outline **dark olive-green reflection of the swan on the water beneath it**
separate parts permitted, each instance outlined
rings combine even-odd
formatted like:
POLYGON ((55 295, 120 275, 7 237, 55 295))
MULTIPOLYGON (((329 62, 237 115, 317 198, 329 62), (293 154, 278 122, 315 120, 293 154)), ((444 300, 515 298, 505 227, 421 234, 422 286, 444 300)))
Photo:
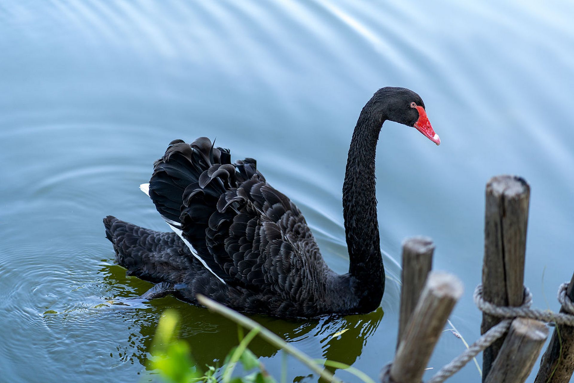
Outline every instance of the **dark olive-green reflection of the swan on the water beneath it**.
MULTIPOLYGON (((103 265, 100 269, 102 280, 114 296, 138 295, 150 287, 149 283, 138 280, 135 277, 127 277, 125 269, 116 265, 103 265), (135 283, 135 284, 134 284, 135 283), (121 291, 122 286, 126 291, 121 291), (133 288, 137 291, 134 291, 133 288)), ((116 300, 116 299, 114 299, 116 300)), ((205 365, 221 366, 227 353, 238 345, 238 326, 236 323, 214 314, 203 307, 196 307, 181 302, 174 297, 167 296, 155 299, 147 303, 123 300, 118 312, 125 315, 125 321, 129 324, 133 334, 130 338, 139 338, 142 342, 133 343, 130 350, 123 350, 126 362, 136 360, 143 366, 148 365, 150 345, 156 331, 157 322, 161 313, 173 308, 177 310, 180 318, 179 338, 187 341, 191 346, 192 355, 197 366, 205 369, 205 365), (132 310, 146 310, 148 315, 134 316, 132 310), (131 354, 131 357, 130 355, 131 354)), ((377 310, 364 315, 325 315, 315 319, 278 319, 270 316, 250 316, 262 326, 279 335, 286 342, 293 343, 311 357, 316 359, 329 359, 352 365, 361 355, 367 340, 377 330, 383 317, 383 310, 377 310), (321 354, 317 354, 320 348, 321 354)), ((273 357, 279 351, 277 347, 270 345, 265 339, 256 336, 249 345, 253 353, 261 357, 273 357)), ((265 361, 263 361, 265 364, 265 361)), ((289 362, 288 362, 289 363, 289 362)), ((334 367, 325 367, 335 372, 334 367)), ((305 370, 307 371, 307 370, 305 370)), ((294 381, 315 380, 311 371, 307 376, 298 376, 294 381)))

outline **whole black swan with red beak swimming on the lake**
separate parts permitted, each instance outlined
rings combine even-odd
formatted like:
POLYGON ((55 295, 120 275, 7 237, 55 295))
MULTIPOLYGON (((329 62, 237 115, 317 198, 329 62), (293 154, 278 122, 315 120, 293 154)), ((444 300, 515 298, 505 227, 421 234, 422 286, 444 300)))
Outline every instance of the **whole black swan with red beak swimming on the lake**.
POLYGON ((343 184, 349 272, 333 272, 301 211, 267 183, 253 158, 201 137, 170 142, 141 185, 174 233, 104 218, 116 261, 156 285, 144 299, 172 294, 197 304, 203 294, 235 310, 280 317, 375 310, 385 290, 375 199, 375 150, 386 120, 440 138, 418 94, 386 87, 359 115, 343 184))

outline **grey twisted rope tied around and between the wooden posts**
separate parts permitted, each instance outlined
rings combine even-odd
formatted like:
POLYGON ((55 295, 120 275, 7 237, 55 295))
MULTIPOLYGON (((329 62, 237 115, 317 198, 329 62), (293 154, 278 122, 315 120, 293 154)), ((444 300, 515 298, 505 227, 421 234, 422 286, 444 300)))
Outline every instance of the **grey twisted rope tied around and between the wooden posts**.
MULTIPOLYGON (((433 376, 428 383, 442 383, 451 377, 453 374, 459 372, 459 370, 466 365, 472 358, 484 351, 488 346, 492 345, 498 338, 508 331, 510 323, 512 323, 513 318, 530 318, 542 320, 544 322, 554 322, 556 324, 565 324, 567 326, 574 326, 574 303, 569 299, 567 295, 568 282, 560 285, 558 289, 558 301, 562 305, 565 311, 571 314, 556 313, 549 310, 540 310, 537 308, 530 308, 532 304, 532 294, 528 288, 524 288, 524 300, 522 305, 518 307, 500 307, 496 306, 490 302, 487 302, 482 297, 482 285, 478 285, 474 291, 473 299, 476 307, 480 311, 497 316, 498 318, 507 318, 502 320, 496 326, 493 326, 485 332, 476 342, 472 343, 470 347, 462 354, 460 354, 455 359, 452 359, 448 365, 444 366, 433 376)), ((383 368, 383 376, 389 378, 390 380, 390 365, 386 365, 383 368)), ((384 382, 385 380, 383 380, 384 382)))

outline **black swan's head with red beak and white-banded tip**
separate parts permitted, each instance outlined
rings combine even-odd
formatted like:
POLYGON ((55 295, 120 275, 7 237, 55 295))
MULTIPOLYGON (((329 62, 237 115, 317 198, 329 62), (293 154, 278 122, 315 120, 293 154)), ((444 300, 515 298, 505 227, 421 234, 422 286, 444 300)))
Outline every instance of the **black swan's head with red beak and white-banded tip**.
POLYGON ((407 88, 385 87, 375 93, 373 100, 384 119, 412 126, 440 145, 440 137, 430 125, 421 96, 407 88))

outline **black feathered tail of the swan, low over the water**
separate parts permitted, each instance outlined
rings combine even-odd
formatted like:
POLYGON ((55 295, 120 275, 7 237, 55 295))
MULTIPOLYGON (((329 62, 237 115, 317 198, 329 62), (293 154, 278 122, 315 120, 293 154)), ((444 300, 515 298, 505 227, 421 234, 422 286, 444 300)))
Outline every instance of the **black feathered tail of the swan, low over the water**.
POLYGON ((193 256, 175 233, 145 229, 111 215, 103 223, 106 238, 114 246, 115 262, 128 275, 160 283, 181 280, 189 273, 193 256))

